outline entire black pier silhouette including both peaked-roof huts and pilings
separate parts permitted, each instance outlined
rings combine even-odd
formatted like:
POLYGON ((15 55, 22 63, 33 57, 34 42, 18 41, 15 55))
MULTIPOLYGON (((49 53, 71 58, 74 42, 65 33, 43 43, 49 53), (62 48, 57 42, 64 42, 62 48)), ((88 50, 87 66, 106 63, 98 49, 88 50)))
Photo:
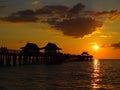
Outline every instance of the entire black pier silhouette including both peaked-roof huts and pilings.
POLYGON ((81 55, 63 54, 62 50, 54 43, 48 43, 45 47, 39 48, 34 43, 27 43, 20 50, 0 48, 0 66, 16 66, 28 64, 61 64, 70 61, 70 58, 77 58, 74 61, 92 60, 93 56, 87 52, 81 55), (44 52, 41 52, 43 50, 44 52))

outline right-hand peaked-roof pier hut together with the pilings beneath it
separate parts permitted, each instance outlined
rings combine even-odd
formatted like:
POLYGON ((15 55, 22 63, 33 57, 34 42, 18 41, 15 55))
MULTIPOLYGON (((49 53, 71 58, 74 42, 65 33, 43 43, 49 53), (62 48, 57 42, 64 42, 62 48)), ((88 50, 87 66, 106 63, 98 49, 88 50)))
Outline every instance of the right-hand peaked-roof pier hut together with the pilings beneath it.
POLYGON ((44 50, 46 64, 60 64, 63 62, 63 54, 59 52, 61 48, 56 44, 48 43, 41 49, 44 50))

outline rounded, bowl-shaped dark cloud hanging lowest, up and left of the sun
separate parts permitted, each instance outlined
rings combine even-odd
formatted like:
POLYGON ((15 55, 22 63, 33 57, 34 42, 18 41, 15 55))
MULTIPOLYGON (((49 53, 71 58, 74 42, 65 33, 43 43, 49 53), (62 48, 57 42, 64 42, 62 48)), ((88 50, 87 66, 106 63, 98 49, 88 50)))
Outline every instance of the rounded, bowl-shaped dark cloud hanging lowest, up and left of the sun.
POLYGON ((96 31, 97 27, 102 24, 90 17, 88 18, 75 18, 63 20, 61 22, 49 22, 54 28, 63 32, 64 35, 73 37, 84 37, 96 31))

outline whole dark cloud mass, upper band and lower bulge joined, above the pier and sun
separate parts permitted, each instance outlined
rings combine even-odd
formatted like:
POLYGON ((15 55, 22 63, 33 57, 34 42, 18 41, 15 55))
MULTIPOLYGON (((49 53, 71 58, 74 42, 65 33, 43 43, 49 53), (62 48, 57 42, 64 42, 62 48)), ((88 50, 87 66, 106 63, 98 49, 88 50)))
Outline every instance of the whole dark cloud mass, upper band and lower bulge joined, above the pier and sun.
POLYGON ((47 5, 36 10, 11 13, 6 17, 0 17, 0 20, 13 23, 48 23, 64 35, 82 38, 96 31, 96 28, 102 27, 103 21, 99 20, 100 16, 118 14, 117 10, 94 13, 93 11, 86 11, 85 7, 82 3, 78 3, 73 7, 47 5), (95 19, 96 17, 97 19, 95 19))

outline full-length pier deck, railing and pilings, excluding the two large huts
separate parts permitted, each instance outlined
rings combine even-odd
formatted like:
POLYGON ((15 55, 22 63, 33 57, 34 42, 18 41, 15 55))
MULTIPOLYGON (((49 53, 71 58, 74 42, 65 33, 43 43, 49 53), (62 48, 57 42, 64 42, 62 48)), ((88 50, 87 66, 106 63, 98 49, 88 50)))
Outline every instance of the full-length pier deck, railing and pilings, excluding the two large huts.
POLYGON ((68 61, 90 61, 93 56, 83 53, 82 55, 66 55, 63 53, 45 54, 45 53, 24 53, 22 50, 0 49, 0 66, 16 66, 28 64, 61 64, 68 61), (68 60, 76 58, 76 60, 68 60))

